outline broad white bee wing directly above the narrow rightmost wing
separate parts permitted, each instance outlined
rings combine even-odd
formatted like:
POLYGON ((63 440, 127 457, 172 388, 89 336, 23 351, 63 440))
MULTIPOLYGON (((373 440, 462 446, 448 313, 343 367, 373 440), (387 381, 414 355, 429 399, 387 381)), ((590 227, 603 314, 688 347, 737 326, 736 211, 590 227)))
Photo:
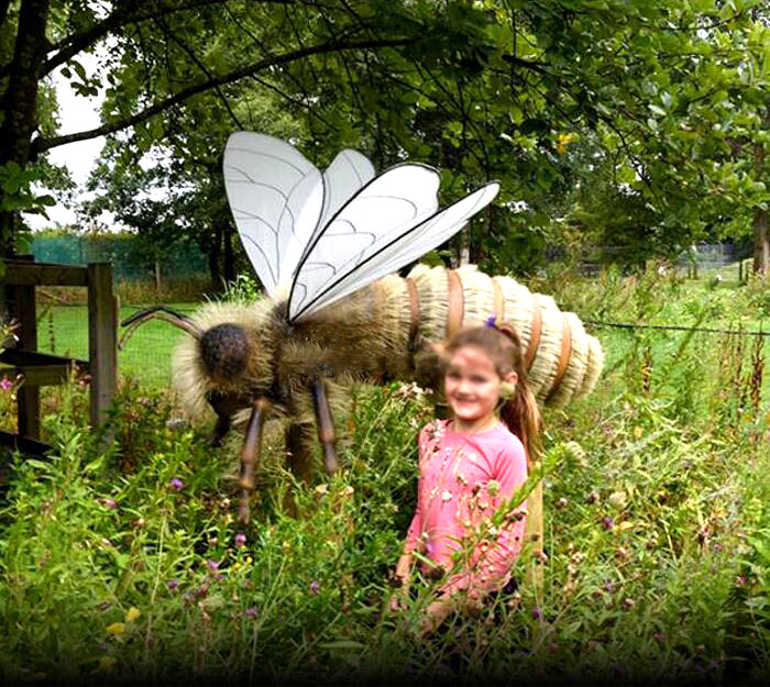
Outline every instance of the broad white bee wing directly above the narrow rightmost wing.
MULTIPOLYGON (((289 293, 289 321, 316 310, 322 295, 358 265, 433 215, 439 181, 432 167, 397 165, 362 186, 331 214, 297 266, 289 293)), ((366 282, 364 279, 361 285, 366 282)))

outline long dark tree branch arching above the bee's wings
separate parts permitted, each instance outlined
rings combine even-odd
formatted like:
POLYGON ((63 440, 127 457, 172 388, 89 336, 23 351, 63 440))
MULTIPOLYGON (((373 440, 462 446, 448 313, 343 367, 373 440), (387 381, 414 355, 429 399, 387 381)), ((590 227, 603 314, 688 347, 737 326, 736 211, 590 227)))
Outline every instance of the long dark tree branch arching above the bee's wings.
POLYGON ((234 81, 238 81, 244 77, 252 76, 255 73, 262 71, 263 69, 267 69, 268 67, 277 67, 279 65, 289 64, 292 62, 296 62, 297 59, 309 57, 310 55, 322 55, 324 53, 334 53, 342 51, 372 49, 378 47, 399 47, 409 45, 411 43, 415 43, 416 41, 416 37, 404 37, 380 41, 360 41, 350 43, 330 42, 322 43, 320 45, 312 45, 310 47, 306 47, 298 51, 293 51, 283 55, 276 55, 274 57, 267 57, 251 65, 246 65, 245 67, 234 69, 229 74, 215 77, 206 81, 201 81, 200 84, 196 84, 194 86, 190 86, 189 88, 185 88, 178 93, 175 93, 174 96, 170 96, 165 100, 155 103, 154 106, 145 108, 136 114, 121 119, 119 121, 108 122, 106 124, 102 124, 101 126, 97 126, 96 129, 90 129, 88 131, 81 131, 74 134, 65 134, 63 136, 53 136, 50 138, 36 138, 33 143, 33 148, 35 153, 41 153, 43 151, 48 151, 53 147, 57 147, 59 145, 66 145, 67 143, 75 143, 77 141, 88 141, 98 136, 105 136, 107 134, 116 133, 117 131, 122 131, 123 129, 128 129, 129 126, 134 126, 136 124, 142 123, 148 120, 151 117, 164 112, 165 110, 168 110, 169 108, 173 108, 174 106, 177 106, 184 102, 185 100, 188 100, 193 96, 197 96, 198 93, 202 93, 207 90, 217 88, 219 86, 224 86, 226 84, 233 84, 234 81))

